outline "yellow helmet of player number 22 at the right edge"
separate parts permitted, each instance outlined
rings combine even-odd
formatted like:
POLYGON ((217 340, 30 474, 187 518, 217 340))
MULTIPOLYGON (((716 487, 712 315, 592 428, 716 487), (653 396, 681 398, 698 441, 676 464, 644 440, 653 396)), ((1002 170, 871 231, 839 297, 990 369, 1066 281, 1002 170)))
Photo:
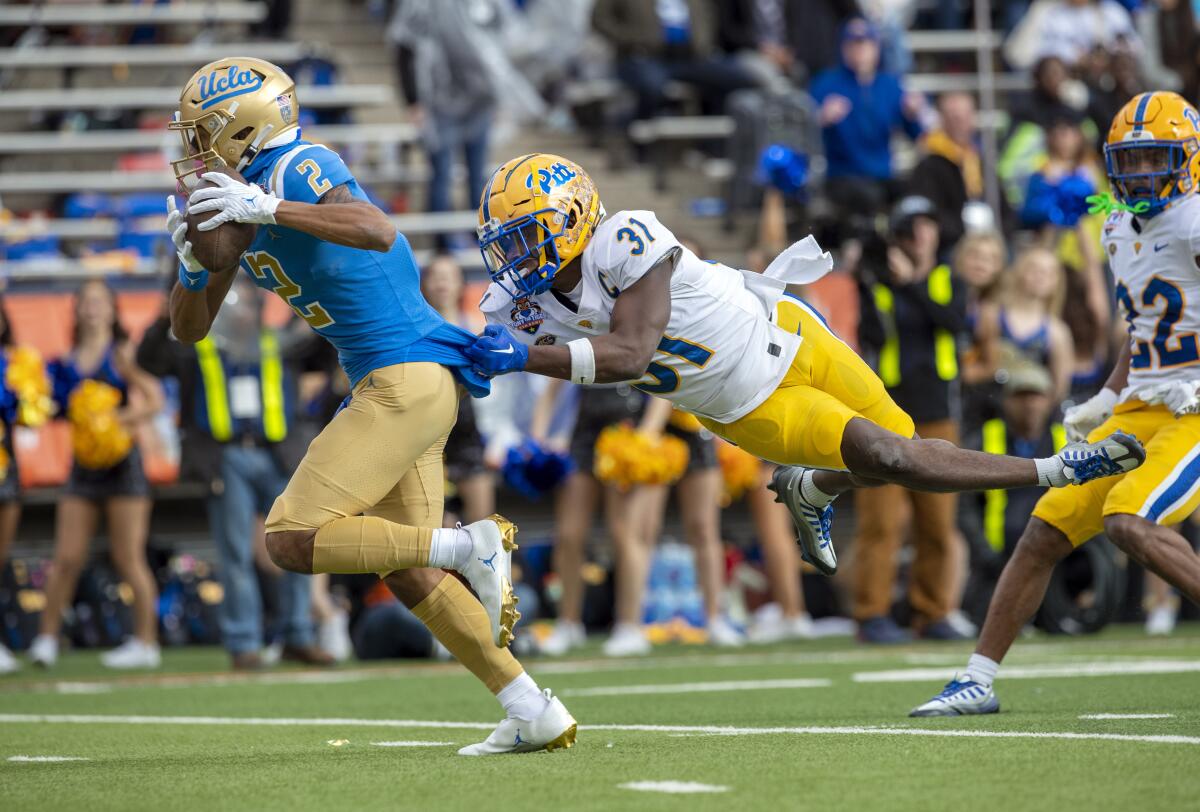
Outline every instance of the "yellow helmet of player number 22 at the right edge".
POLYGON ((1104 164, 1117 199, 1153 217, 1200 187, 1200 113, 1178 94, 1139 94, 1112 119, 1104 164))

